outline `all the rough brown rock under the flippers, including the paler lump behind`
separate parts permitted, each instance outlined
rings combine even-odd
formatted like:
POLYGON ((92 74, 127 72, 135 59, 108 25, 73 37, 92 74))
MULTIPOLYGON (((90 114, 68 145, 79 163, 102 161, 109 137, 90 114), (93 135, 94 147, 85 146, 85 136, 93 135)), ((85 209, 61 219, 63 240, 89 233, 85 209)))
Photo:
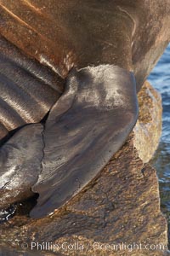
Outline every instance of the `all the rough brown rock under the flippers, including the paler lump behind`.
POLYGON ((144 164, 161 134, 161 99, 148 83, 139 93, 139 106, 139 122, 127 142, 82 193, 52 216, 34 220, 18 214, 1 226, 6 250, 24 247, 28 253, 2 248, 0 255, 48 256, 54 255, 53 247, 55 255, 168 254, 156 170, 144 164))

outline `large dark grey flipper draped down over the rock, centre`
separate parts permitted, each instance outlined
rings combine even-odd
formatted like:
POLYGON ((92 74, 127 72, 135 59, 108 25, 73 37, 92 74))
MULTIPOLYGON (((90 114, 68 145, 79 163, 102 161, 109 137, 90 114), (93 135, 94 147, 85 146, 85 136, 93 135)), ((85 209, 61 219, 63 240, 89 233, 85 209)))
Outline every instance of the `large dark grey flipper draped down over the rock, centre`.
POLYGON ((61 207, 125 142, 138 116, 133 73, 113 65, 73 70, 43 132, 42 172, 31 217, 61 207))

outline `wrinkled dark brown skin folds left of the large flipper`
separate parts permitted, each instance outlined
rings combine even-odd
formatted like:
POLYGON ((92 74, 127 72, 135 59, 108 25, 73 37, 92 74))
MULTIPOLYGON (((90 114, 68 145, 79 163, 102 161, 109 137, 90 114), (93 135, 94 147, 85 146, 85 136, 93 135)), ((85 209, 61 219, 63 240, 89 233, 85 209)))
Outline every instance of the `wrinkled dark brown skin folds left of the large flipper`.
POLYGON ((27 123, 37 123, 59 99, 63 86, 48 67, 28 59, 0 36, 0 139, 27 123))

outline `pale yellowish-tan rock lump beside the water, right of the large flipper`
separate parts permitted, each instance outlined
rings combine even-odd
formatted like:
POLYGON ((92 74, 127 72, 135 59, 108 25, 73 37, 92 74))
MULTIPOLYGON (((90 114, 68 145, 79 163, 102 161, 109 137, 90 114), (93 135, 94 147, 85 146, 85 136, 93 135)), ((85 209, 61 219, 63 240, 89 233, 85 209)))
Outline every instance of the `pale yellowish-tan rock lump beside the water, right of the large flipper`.
POLYGON ((134 147, 139 158, 147 163, 161 137, 161 95, 146 81, 139 91, 139 119, 135 125, 134 147))

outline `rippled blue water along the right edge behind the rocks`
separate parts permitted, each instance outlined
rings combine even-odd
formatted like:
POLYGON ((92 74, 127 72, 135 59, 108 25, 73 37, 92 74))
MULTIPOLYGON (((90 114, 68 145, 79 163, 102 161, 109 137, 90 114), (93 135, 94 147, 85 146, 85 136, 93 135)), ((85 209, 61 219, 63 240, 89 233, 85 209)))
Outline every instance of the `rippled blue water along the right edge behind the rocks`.
POLYGON ((159 177, 161 212, 166 213, 170 224, 170 44, 148 80, 159 90, 162 97, 162 135, 153 163, 159 177))

